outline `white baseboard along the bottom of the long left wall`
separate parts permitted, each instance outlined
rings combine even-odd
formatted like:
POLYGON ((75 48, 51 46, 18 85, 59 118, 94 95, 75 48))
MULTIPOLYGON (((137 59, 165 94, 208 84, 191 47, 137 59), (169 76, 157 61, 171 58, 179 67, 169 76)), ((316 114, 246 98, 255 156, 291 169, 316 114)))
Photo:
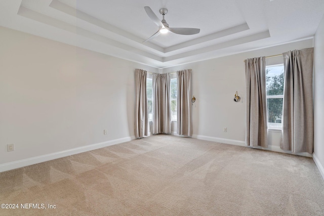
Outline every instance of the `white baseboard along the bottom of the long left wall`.
POLYGON ((41 156, 17 160, 17 161, 13 161, 13 162, 9 162, 9 163, 3 163, 3 164, 0 164, 0 172, 8 171, 11 169, 16 169, 16 168, 21 168, 24 166, 41 163, 41 162, 45 162, 45 161, 49 161, 49 160, 54 160, 57 158, 66 157, 66 156, 70 156, 73 154, 83 153, 83 152, 87 152, 87 151, 91 151, 91 150, 95 150, 95 149, 100 149, 103 147, 112 146, 112 145, 116 145, 119 143, 125 143, 125 142, 129 142, 131 140, 134 140, 134 139, 135 139, 135 136, 125 137, 125 138, 110 140, 110 141, 106 141, 106 142, 102 142, 102 143, 96 143, 96 144, 92 144, 92 145, 88 145, 88 146, 78 147, 78 148, 74 148, 74 149, 68 149, 68 150, 55 152, 55 153, 51 153, 51 154, 45 154, 45 155, 41 155, 41 156))

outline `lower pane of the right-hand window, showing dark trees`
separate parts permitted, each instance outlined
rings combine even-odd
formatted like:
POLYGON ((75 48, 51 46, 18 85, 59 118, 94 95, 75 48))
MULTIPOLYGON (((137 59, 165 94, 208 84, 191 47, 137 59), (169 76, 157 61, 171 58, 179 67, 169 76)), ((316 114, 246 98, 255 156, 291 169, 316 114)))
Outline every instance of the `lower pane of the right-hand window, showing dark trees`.
MULTIPOLYGON (((270 123, 278 123, 281 126, 282 119, 282 98, 268 98, 268 122, 270 123)), ((276 125, 276 124, 272 124, 276 125)))

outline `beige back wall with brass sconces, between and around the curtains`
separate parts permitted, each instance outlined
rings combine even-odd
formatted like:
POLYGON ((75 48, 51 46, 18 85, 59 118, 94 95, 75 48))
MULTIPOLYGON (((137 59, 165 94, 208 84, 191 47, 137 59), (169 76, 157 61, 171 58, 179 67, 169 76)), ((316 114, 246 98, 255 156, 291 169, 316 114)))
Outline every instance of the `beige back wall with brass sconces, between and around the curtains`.
MULTIPOLYGON (((164 72, 192 69, 192 94, 196 98, 192 107, 194 137, 245 145, 246 83, 244 60, 309 47, 313 47, 312 39, 165 68, 164 72), (238 103, 233 101, 236 91, 241 97, 241 101, 238 103), (227 127, 226 133, 223 132, 223 127, 227 127)), ((266 61, 269 64, 283 63, 282 56, 267 58, 266 61)), ((176 131, 176 125, 174 125, 174 130, 176 131)), ((269 150, 282 151, 279 148, 280 136, 281 133, 269 132, 269 150)), ((306 153, 301 155, 311 156, 306 153)))

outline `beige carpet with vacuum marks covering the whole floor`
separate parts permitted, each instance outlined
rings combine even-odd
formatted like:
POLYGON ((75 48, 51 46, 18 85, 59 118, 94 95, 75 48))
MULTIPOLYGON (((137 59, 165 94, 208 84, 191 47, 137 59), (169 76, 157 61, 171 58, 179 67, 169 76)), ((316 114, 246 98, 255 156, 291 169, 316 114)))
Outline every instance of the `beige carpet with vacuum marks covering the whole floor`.
POLYGON ((1 172, 0 183, 0 202, 19 205, 0 215, 324 215, 311 158, 168 135, 1 172))

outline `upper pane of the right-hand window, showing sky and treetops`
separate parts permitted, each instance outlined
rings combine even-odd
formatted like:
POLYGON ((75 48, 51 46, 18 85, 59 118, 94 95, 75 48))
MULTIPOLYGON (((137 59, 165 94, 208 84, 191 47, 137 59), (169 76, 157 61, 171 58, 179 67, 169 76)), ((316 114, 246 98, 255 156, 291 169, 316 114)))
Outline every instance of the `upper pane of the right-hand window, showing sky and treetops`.
POLYGON ((267 95, 284 95, 284 65, 266 67, 267 95))

